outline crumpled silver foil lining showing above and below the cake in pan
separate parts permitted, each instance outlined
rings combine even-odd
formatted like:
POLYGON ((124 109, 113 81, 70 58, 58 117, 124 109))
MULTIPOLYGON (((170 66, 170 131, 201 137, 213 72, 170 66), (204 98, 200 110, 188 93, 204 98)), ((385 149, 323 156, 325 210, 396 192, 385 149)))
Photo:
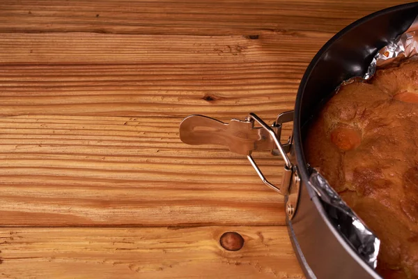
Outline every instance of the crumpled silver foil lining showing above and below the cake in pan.
MULTIPOLYGON (((369 80, 376 73, 377 68, 384 68, 392 63, 399 63, 418 53, 418 17, 410 28, 401 34, 393 43, 383 47, 374 56, 364 77, 369 80)), ((357 77, 359 78, 359 77, 357 77)), ((353 82, 350 79, 343 84, 353 82)), ((366 226, 366 224, 350 209, 338 193, 330 186, 326 179, 316 170, 311 168, 309 184, 316 191, 323 202, 330 222, 350 243, 364 262, 375 269, 378 264, 380 240, 366 226)))

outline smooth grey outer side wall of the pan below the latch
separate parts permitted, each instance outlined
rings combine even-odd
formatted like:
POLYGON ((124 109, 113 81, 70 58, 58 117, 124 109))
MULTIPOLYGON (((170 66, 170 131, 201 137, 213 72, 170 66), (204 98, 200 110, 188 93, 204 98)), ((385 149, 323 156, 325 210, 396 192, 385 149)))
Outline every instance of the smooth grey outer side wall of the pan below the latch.
POLYGON ((333 225, 324 218, 325 211, 310 187, 300 188, 297 213, 288 220, 293 248, 307 278, 375 278, 380 276, 367 265, 346 241, 336 234, 333 225), (311 195, 314 195, 311 198, 311 195))

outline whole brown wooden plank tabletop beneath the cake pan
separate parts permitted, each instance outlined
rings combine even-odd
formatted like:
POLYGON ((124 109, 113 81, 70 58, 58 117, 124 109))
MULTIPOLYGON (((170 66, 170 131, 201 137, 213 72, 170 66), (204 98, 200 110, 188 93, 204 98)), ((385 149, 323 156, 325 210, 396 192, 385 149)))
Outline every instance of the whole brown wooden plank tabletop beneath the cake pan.
POLYGON ((403 2, 2 0, 0 278, 302 278, 283 197, 178 124, 272 121, 334 33, 403 2))

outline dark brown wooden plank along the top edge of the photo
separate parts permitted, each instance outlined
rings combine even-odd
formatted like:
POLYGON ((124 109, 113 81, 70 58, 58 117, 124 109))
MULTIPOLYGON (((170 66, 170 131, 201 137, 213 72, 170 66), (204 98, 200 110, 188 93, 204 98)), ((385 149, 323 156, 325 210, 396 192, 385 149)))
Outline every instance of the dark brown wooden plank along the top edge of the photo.
POLYGON ((335 33, 405 0, 38 1, 2 0, 0 32, 257 35, 263 30, 335 33), (12 23, 13 22, 13 23, 12 23))

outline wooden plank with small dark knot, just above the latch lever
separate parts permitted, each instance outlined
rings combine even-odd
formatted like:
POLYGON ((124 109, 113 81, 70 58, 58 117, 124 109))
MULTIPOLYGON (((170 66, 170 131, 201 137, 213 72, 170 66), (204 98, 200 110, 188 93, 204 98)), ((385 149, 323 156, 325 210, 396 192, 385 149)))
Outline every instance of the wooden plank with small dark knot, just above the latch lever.
POLYGON ((0 115, 244 117, 254 111, 272 119, 293 107, 307 63, 329 38, 166 37, 3 34, 0 115), (302 51, 289 56, 295 44, 302 51))

